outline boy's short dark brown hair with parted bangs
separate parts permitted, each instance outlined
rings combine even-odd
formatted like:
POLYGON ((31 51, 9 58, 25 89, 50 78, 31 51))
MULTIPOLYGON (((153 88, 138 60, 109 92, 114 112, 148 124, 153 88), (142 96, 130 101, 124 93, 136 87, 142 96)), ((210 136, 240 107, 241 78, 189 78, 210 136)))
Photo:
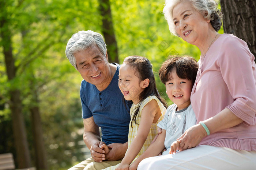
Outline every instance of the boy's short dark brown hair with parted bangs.
POLYGON ((176 74, 179 78, 192 80, 192 84, 195 83, 198 64, 194 58, 175 56, 169 57, 163 62, 159 69, 159 77, 163 84, 172 78, 170 73, 173 69, 176 70, 176 74))

